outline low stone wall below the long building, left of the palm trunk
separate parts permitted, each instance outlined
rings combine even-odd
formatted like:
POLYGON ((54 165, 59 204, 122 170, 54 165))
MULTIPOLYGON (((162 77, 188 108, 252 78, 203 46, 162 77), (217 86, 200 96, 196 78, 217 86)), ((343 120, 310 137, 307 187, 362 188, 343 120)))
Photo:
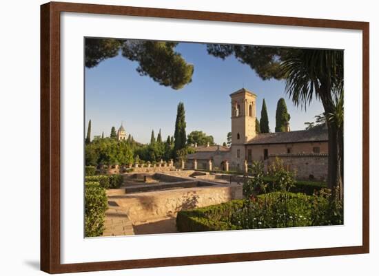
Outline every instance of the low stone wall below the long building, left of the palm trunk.
POLYGON ((327 153, 287 153, 273 154, 265 161, 267 166, 278 157, 291 171, 296 171, 298 180, 327 180, 328 155, 327 153))

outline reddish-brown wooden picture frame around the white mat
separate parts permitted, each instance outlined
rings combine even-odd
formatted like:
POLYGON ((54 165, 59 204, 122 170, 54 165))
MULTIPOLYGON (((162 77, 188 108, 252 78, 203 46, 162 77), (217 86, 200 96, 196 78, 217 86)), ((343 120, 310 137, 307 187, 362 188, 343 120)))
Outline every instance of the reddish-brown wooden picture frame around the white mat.
POLYGON ((41 6, 41 270, 48 273, 181 266, 369 253, 369 23, 272 17, 252 14, 198 12, 82 3, 50 2, 41 6), (362 246, 314 248, 259 253, 136 259, 114 262, 60 262, 60 14, 81 12, 138 17, 195 19, 286 26, 362 30, 363 45, 363 213, 362 246))

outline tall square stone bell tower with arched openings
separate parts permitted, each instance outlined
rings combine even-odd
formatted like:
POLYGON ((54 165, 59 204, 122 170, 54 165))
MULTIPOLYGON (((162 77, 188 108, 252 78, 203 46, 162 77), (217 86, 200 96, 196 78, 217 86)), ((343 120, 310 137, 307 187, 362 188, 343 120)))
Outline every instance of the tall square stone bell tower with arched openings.
POLYGON ((256 136, 256 94, 242 88, 230 94, 232 99, 232 167, 242 169, 245 143, 256 136))

